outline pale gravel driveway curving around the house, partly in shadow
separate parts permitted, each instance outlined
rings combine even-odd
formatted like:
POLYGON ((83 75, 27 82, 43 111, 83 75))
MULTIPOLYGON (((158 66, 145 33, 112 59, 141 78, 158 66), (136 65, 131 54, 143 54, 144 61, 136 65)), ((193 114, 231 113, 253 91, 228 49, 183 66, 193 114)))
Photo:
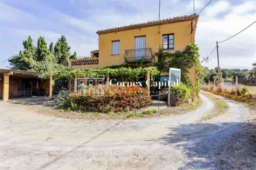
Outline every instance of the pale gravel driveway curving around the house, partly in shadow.
POLYGON ((214 109, 200 95, 196 111, 161 119, 82 121, 43 116, 0 102, 0 170, 216 169, 215 154, 247 119, 248 109, 224 99, 214 109))

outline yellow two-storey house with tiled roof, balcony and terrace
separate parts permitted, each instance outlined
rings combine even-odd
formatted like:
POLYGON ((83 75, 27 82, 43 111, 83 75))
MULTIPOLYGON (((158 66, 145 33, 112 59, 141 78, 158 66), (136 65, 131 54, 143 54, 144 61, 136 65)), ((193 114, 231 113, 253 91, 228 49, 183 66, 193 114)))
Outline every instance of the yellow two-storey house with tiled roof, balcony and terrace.
MULTIPOLYGON (((138 60, 152 65, 157 58, 154 52, 182 51, 195 42, 199 15, 174 17, 160 21, 98 30, 99 49, 91 52, 91 58, 70 60, 69 69, 95 69, 123 63, 136 64, 138 60)), ((194 71, 190 70, 194 82, 194 71)))

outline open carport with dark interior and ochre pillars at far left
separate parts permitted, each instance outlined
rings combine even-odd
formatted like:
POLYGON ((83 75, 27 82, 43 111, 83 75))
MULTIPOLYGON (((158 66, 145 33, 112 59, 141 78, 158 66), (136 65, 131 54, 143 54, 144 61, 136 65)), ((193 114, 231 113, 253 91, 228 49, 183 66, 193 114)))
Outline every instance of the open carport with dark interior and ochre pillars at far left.
POLYGON ((52 98, 52 76, 40 79, 40 73, 23 70, 0 69, 0 98, 49 96, 52 98))

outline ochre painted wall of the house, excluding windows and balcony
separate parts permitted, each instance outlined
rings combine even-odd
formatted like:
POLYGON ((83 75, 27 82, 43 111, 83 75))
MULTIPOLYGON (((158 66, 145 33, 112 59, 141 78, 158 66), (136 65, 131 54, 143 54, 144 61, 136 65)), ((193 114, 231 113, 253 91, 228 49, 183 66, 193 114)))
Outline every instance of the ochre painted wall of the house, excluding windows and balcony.
MULTIPOLYGON (((99 35, 99 64, 86 66, 71 66, 70 69, 94 69, 106 66, 119 65, 124 63, 125 50, 134 49, 134 39, 136 36, 146 36, 146 47, 153 49, 154 52, 162 48, 162 36, 164 34, 174 34, 174 49, 165 50, 175 52, 182 51, 188 44, 195 42, 196 23, 191 33, 191 20, 167 23, 159 26, 149 26, 136 29, 122 30, 119 32, 104 33, 99 35), (112 54, 112 41, 120 41, 120 54, 112 54)), ((156 59, 157 60, 157 59, 156 59)), ((70 62, 69 62, 70 63, 70 62)), ((190 69, 189 77, 194 84, 194 69, 190 69)))

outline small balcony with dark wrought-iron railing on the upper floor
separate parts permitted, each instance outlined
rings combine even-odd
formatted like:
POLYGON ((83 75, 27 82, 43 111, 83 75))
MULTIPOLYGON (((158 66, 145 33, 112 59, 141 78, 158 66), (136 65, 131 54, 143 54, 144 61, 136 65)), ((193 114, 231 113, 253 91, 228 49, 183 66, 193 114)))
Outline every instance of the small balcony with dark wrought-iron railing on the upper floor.
POLYGON ((125 50, 124 60, 126 63, 137 63, 143 61, 150 63, 154 58, 151 48, 125 50))

